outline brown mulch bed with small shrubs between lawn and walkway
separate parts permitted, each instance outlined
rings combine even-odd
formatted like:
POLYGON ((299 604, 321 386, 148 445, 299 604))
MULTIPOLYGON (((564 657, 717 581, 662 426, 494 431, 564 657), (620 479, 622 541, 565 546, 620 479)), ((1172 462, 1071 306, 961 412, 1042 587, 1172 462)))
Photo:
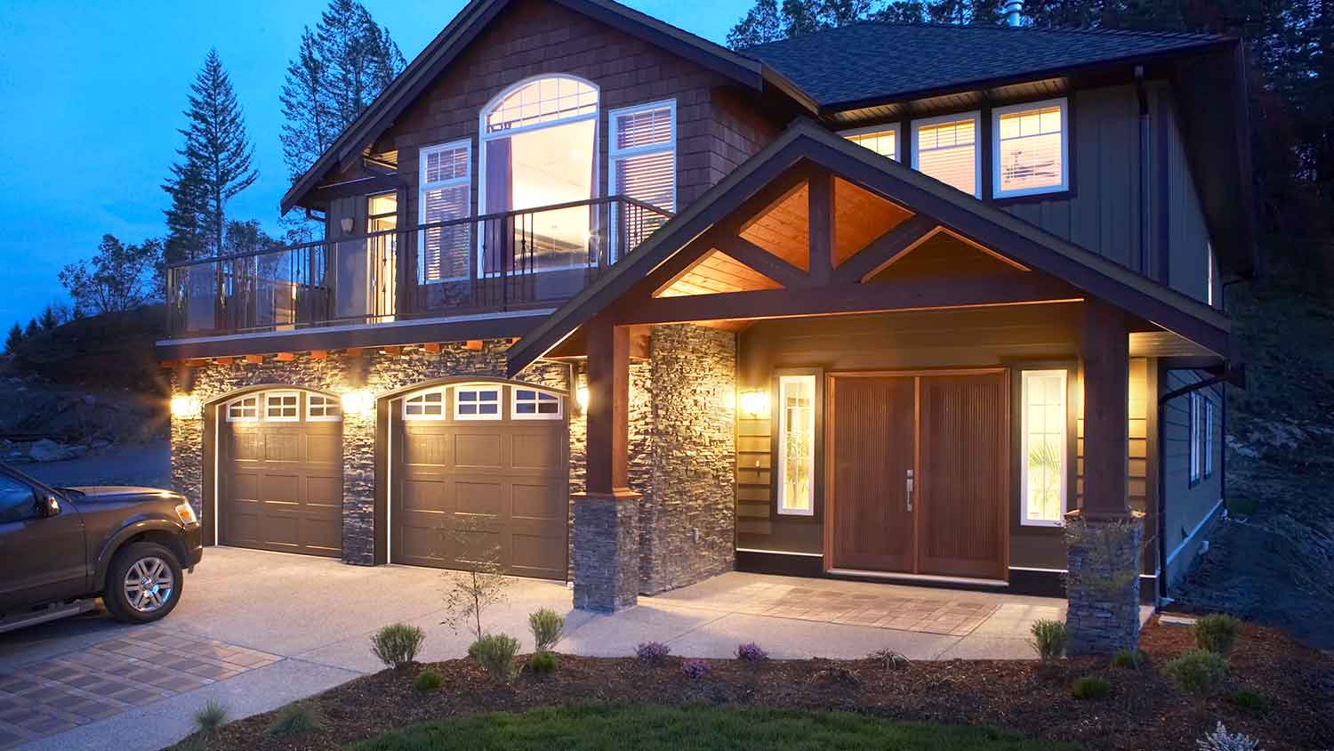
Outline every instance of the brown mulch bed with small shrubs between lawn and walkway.
POLYGON ((1106 659, 1059 664, 1014 660, 918 662, 886 670, 876 660, 707 660, 712 671, 687 678, 683 660, 659 666, 632 658, 560 655, 547 676, 522 672, 510 686, 492 683, 471 660, 383 671, 332 688, 311 702, 324 730, 296 739, 268 738, 272 712, 235 722, 208 743, 211 751, 338 748, 415 722, 482 711, 526 710, 562 703, 706 703, 843 710, 890 719, 984 724, 1031 738, 1065 740, 1090 750, 1194 748, 1222 720, 1230 731, 1258 738, 1266 751, 1323 750, 1334 744, 1334 658, 1299 646, 1279 631, 1246 626, 1231 655, 1231 684, 1218 698, 1197 699, 1167 684, 1155 670, 1194 646, 1191 630, 1146 627, 1141 647, 1150 664, 1111 668, 1106 659), (439 671, 439 691, 419 694, 412 678, 439 671), (1070 683, 1098 674, 1111 695, 1078 700, 1070 683), (1269 698, 1255 714, 1230 703, 1230 690, 1251 687, 1269 698))

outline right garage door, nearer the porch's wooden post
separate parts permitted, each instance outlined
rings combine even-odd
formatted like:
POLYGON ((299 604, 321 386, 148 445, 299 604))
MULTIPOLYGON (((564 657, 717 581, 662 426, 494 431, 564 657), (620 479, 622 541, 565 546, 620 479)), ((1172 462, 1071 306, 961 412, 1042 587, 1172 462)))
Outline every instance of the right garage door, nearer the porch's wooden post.
POLYGON ((570 459, 564 396, 484 383, 395 403, 395 563, 566 579, 570 459))

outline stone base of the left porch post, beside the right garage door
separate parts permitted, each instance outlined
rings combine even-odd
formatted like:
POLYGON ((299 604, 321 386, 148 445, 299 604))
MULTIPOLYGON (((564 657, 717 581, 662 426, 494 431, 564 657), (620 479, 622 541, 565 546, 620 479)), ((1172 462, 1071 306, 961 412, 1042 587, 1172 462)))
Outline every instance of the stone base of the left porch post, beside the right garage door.
POLYGON ((614 612, 639 602, 639 495, 576 494, 575 607, 614 612))

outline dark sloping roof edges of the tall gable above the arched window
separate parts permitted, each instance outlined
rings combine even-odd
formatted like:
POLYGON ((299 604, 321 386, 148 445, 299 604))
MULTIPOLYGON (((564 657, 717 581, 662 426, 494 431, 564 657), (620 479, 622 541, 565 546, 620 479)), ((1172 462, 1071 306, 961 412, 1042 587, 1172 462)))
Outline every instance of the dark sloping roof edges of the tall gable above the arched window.
MULTIPOLYGON (((782 75, 767 69, 759 60, 738 55, 731 49, 663 23, 652 16, 627 8, 614 0, 551 0, 571 11, 606 23, 626 33, 638 36, 663 49, 680 55, 716 73, 727 76, 756 91, 766 83, 784 92, 808 109, 815 103, 782 75)), ((490 24, 510 0, 471 0, 459 15, 436 35, 420 55, 370 107, 348 125, 334 144, 312 164, 283 196, 280 211, 287 213, 296 201, 315 188, 331 169, 356 157, 364 144, 388 128, 422 91, 454 61, 459 53, 490 24)))

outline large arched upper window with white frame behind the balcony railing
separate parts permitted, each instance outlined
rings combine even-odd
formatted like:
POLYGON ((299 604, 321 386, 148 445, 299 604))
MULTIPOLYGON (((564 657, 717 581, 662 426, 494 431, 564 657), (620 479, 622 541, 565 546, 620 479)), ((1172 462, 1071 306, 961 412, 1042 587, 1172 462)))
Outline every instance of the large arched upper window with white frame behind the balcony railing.
MULTIPOLYGON (((519 212, 598 197, 598 88, 574 76, 520 81, 482 109, 480 213, 519 212)), ((495 273, 522 235, 524 271, 588 261, 590 205, 536 211, 483 227, 479 273, 495 273)))

